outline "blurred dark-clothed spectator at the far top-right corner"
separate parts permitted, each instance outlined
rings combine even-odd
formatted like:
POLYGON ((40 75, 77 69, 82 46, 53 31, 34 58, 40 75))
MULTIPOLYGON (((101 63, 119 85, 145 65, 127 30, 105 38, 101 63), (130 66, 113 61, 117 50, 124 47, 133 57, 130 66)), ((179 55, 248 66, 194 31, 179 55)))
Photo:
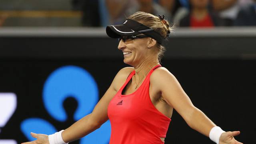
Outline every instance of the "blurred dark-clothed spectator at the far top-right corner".
POLYGON ((256 26, 256 0, 240 9, 234 22, 235 26, 256 26))

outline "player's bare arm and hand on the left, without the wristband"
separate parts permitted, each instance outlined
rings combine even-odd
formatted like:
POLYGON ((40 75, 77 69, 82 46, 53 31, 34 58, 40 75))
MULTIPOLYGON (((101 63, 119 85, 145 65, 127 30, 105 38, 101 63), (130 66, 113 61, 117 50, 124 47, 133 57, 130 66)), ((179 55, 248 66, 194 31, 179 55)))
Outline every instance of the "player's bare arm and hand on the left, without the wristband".
MULTIPOLYGON (((115 76, 112 84, 106 91, 106 93, 102 96, 100 101, 94 107, 94 110, 91 114, 84 116, 74 124, 72 124, 69 128, 62 132, 62 139, 64 142, 72 142, 74 140, 80 139, 90 132, 93 132, 97 128, 108 120, 108 104, 110 100, 115 96, 116 92, 121 88, 122 84, 124 84, 127 76, 133 70, 132 67, 122 68, 115 76)), ((45 137, 47 135, 40 135, 40 134, 32 134, 33 137, 45 137)), ((38 144, 48 144, 48 137, 46 138, 47 142, 39 142, 40 140, 37 139, 38 144)), ((45 141, 45 138, 42 138, 45 141)), ((23 144, 23 143, 22 143, 23 144)), ((28 142, 24 144, 37 144, 35 141, 28 142)))

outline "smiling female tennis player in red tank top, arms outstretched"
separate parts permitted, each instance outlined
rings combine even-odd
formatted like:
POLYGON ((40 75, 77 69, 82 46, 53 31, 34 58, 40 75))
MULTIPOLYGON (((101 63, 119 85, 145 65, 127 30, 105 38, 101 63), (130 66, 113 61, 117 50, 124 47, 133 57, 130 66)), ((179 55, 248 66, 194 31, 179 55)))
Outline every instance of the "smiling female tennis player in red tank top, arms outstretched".
POLYGON ((217 144, 242 144, 239 131, 225 132, 196 108, 178 80, 160 65, 162 43, 172 28, 164 16, 136 12, 121 25, 107 26, 111 38, 119 38, 124 54, 122 68, 91 114, 55 134, 34 134, 22 144, 66 144, 111 123, 110 144, 164 144, 175 109, 194 130, 217 144))

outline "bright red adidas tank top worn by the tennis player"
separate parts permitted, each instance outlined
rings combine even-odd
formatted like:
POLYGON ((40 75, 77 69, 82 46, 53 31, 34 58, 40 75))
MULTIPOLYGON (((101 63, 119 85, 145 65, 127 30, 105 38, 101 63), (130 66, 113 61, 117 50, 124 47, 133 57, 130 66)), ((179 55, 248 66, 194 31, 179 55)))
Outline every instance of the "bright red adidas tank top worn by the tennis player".
POLYGON ((160 137, 166 137, 171 119, 155 108, 149 96, 150 75, 160 66, 150 70, 135 92, 122 95, 124 87, 135 74, 132 71, 108 104, 110 144, 164 144, 160 137))

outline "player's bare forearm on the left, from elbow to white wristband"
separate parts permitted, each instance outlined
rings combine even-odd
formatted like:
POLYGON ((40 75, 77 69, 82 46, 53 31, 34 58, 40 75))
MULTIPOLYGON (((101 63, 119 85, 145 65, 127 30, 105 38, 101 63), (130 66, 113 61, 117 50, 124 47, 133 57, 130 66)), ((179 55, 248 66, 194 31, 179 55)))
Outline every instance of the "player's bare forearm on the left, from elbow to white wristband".
POLYGON ((91 114, 84 116, 74 124, 72 124, 69 128, 62 132, 62 139, 64 142, 72 142, 74 140, 78 140, 90 132, 93 132, 97 128, 100 128, 100 124, 94 123, 90 120, 91 114))

